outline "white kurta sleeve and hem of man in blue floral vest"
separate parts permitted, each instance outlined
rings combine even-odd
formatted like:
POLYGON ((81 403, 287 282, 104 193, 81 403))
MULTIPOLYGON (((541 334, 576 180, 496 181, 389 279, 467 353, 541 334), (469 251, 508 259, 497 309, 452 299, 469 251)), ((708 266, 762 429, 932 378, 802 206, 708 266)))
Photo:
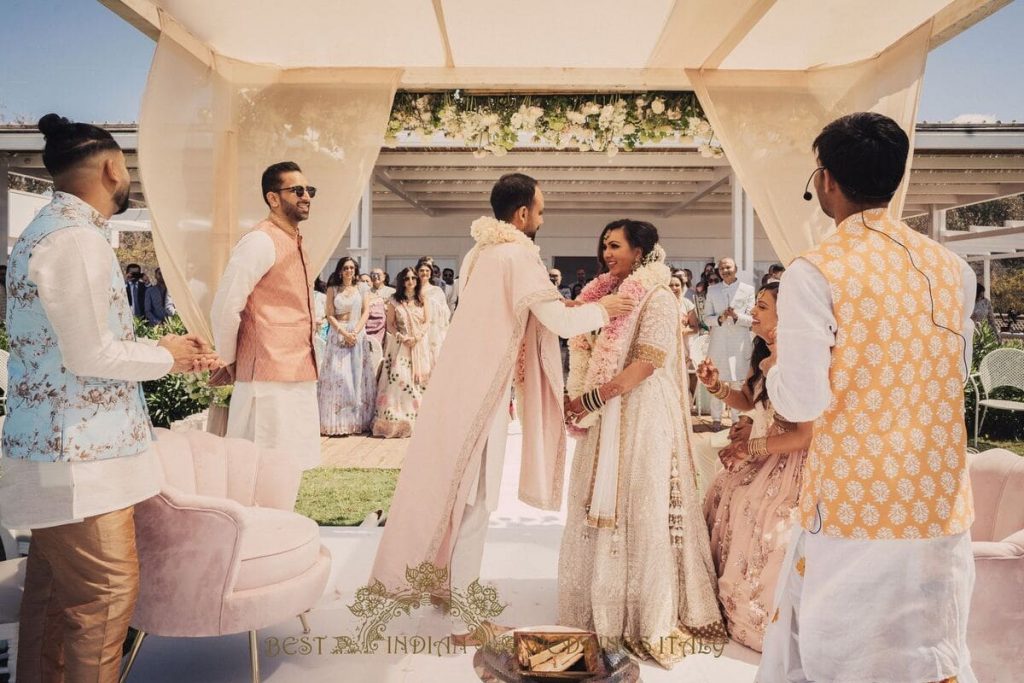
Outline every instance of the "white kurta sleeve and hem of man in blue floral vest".
MULTIPOLYGON (((65 366, 86 377, 145 381, 171 370, 170 351, 152 340, 116 339, 111 307, 111 245, 92 227, 43 239, 29 259, 65 366)), ((2 459, 0 521, 43 528, 127 508, 160 492, 164 475, 151 447, 135 456, 88 462, 2 459)))

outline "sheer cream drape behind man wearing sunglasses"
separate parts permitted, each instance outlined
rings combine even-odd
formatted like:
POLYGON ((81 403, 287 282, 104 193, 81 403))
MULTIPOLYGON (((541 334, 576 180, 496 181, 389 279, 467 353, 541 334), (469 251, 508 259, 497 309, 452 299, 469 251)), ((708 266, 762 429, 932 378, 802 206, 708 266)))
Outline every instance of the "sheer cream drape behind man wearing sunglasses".
POLYGON ((161 20, 139 172, 178 312, 212 339, 210 306, 231 247, 267 213, 263 169, 294 161, 318 189, 302 232, 319 270, 370 179, 401 71, 244 63, 202 47, 168 15, 161 20))

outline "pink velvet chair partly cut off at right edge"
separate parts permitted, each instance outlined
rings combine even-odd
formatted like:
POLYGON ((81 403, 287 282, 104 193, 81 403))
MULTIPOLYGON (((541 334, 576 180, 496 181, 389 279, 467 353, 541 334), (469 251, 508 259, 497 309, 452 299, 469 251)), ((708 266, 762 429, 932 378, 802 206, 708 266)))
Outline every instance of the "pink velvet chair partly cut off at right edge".
POLYGON ((983 683, 1024 680, 1024 457, 971 456, 976 580, 968 646, 983 683))

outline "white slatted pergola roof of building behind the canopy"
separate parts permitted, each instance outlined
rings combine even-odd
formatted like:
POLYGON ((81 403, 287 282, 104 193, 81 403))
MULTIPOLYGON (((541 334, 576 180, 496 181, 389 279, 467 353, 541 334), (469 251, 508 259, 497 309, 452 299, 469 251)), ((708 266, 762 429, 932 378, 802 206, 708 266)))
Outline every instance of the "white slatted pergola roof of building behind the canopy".
MULTIPOLYGON (((136 128, 111 130, 127 153, 135 199, 142 200, 136 128)), ((1024 193, 1024 125, 921 124, 914 141, 904 216, 1024 193)), ((0 127, 0 162, 11 172, 48 179, 42 146, 42 135, 34 129, 0 127)), ((374 172, 374 211, 431 216, 484 212, 495 180, 516 170, 543 183, 550 211, 613 208, 666 216, 731 211, 728 160, 707 159, 693 147, 654 145, 610 159, 602 153, 527 148, 477 159, 461 147, 436 144, 381 152, 374 172)))

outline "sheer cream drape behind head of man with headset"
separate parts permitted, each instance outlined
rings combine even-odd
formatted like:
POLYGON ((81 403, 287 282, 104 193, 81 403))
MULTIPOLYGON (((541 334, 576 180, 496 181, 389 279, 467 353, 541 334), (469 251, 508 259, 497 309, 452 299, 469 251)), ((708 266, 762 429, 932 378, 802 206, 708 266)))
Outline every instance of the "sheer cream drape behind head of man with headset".
MULTIPOLYGON (((817 200, 803 200, 804 185, 817 166, 811 143, 825 124, 853 112, 878 112, 907 131, 912 151, 931 33, 929 22, 878 56, 844 67, 687 72, 783 262, 818 244, 830 228, 817 200)), ((893 199, 896 215, 903 207, 906 182, 904 178, 893 199)))

